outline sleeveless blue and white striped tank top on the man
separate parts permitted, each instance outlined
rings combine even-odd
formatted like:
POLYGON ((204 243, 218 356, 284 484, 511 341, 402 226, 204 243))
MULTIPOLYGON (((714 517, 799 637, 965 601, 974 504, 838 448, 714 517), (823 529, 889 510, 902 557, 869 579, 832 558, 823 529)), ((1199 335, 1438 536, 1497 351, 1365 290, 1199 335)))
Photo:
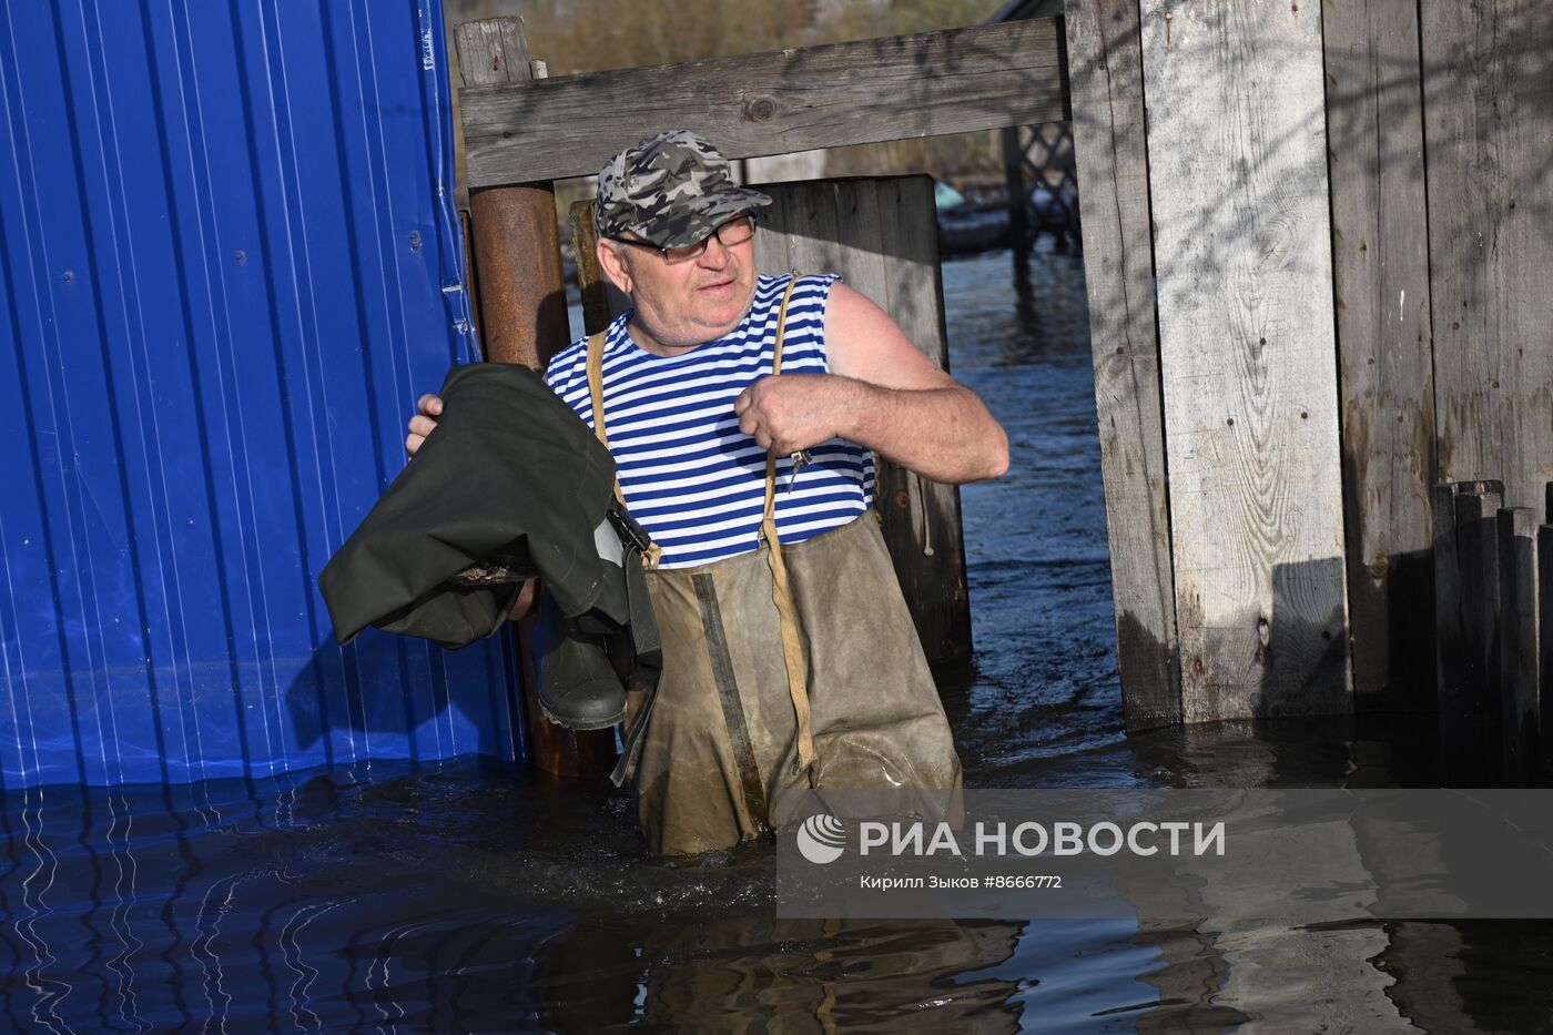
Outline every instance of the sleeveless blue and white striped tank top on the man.
MULTIPOLYGON (((662 567, 690 567, 759 545, 766 451, 739 430, 733 402, 770 373, 776 312, 790 277, 761 275, 749 314, 727 336, 682 356, 654 356, 626 333, 604 336, 604 418, 620 488, 663 550, 662 567)), ((804 277, 787 303, 783 373, 828 373, 825 303, 837 277, 804 277)), ((587 339, 558 353, 545 382, 589 427, 587 339)), ((794 476, 776 458, 776 531, 784 544, 839 528, 873 505, 873 454, 832 438, 794 476)))

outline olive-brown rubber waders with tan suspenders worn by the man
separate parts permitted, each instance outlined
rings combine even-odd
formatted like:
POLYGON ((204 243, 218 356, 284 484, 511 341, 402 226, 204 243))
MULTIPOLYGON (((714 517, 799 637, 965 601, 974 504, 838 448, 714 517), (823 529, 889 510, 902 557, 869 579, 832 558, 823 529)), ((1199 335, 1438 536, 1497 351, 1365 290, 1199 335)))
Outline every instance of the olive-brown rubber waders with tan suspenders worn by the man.
MULTIPOLYGON (((781 373, 787 286, 772 373, 781 373)), ((606 446, 604 336, 589 339, 593 429, 606 446)), ((658 855, 727 849, 790 817, 808 788, 913 788, 943 814, 961 785, 949 723, 874 514, 803 542, 776 536, 766 460, 759 549, 696 567, 644 556, 663 642, 655 701, 632 693, 627 758, 658 855)), ((617 482, 615 493, 620 493, 617 482)))

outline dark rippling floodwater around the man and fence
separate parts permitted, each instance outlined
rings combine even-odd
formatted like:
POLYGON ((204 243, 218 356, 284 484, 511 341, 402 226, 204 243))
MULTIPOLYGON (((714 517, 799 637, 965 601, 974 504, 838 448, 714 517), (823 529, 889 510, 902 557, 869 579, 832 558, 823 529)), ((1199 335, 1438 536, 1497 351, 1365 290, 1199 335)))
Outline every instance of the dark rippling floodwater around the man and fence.
MULTIPOLYGON (((1082 267, 944 267, 1014 465, 963 491, 974 786, 1429 785, 1353 723, 1126 737, 1082 267)), ((778 922, 775 850, 643 858, 629 800, 460 761, 14 793, 0 1026, 53 1032, 1539 1032, 1542 923, 778 922)))

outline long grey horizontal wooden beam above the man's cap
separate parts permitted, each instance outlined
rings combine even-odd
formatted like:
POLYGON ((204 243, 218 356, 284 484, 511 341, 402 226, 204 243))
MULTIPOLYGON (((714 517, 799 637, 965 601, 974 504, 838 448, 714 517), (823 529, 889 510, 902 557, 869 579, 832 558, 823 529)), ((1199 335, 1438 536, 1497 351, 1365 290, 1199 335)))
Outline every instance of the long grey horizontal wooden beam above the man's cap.
POLYGON ((1068 117, 1058 20, 867 39, 458 93, 469 185, 590 176, 660 129, 728 159, 1068 117))

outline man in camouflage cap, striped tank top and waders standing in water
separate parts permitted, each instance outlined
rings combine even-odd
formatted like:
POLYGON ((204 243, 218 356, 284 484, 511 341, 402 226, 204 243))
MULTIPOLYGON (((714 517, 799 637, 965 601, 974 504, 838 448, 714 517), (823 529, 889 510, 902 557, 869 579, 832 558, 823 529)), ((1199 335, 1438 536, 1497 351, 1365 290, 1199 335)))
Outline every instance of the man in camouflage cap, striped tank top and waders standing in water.
MULTIPOLYGON (((686 131, 617 154, 598 177, 598 261, 634 308, 545 371, 657 547, 663 676, 627 724, 646 723, 638 814, 663 855, 780 825, 787 789, 960 786, 870 513, 873 452, 961 483, 1000 476, 1008 440, 834 275, 756 274, 769 204, 686 131)), ((412 455, 441 399, 419 410, 412 455)))

